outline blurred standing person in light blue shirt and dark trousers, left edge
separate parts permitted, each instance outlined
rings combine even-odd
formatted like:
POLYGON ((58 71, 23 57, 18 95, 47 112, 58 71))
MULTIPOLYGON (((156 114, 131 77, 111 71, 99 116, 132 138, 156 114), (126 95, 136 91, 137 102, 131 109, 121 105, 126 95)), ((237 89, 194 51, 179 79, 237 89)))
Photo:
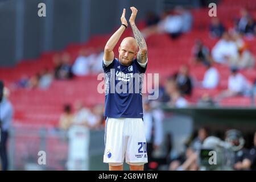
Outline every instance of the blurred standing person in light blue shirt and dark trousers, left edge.
POLYGON ((3 89, 3 98, 0 102, 0 156, 2 171, 8 170, 8 156, 7 156, 7 140, 9 137, 9 130, 13 121, 14 109, 9 101, 10 91, 7 88, 3 89))

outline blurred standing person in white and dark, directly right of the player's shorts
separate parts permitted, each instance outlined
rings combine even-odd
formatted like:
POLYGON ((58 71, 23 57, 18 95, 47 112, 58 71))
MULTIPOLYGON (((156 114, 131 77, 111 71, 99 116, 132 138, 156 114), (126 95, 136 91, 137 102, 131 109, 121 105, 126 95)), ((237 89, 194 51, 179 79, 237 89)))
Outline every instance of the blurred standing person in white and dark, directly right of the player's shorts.
POLYGON ((155 160, 155 154, 160 149, 163 142, 163 113, 160 110, 152 109, 150 100, 143 102, 143 121, 145 125, 148 163, 145 164, 145 170, 151 169, 150 164, 155 160))

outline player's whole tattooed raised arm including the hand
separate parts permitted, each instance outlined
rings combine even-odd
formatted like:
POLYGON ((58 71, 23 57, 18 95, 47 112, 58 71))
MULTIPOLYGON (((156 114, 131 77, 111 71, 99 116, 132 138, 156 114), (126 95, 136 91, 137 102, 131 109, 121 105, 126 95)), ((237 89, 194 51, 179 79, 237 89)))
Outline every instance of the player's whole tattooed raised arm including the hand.
POLYGON ((136 24, 135 24, 135 18, 137 15, 138 10, 135 7, 130 7, 132 13, 131 17, 129 19, 129 22, 131 24, 131 28, 133 30, 133 34, 135 36, 135 39, 138 43, 139 46, 139 52, 137 54, 137 60, 139 63, 145 64, 146 67, 146 61, 147 61, 147 44, 146 41, 144 40, 141 32, 138 30, 136 24))

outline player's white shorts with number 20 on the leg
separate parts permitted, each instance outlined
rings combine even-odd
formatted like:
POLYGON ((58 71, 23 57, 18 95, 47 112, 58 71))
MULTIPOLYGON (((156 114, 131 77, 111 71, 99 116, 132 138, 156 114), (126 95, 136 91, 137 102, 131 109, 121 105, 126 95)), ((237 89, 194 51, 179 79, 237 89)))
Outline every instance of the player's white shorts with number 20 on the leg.
POLYGON ((147 144, 141 118, 108 118, 105 126, 104 163, 113 166, 147 163, 147 144))

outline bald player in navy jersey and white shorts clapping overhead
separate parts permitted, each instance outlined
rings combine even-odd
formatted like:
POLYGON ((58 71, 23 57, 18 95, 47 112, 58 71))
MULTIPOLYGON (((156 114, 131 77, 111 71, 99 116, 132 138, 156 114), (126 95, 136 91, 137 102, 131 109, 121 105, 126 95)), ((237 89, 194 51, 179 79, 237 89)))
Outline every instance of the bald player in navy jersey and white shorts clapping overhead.
POLYGON ((142 171, 144 164, 147 163, 142 120, 142 85, 143 73, 146 72, 147 67, 147 45, 135 25, 138 10, 135 7, 130 9, 132 13, 129 22, 135 39, 133 37, 123 39, 118 48, 119 57, 118 59, 114 57, 113 49, 128 26, 125 18, 126 10, 123 9, 122 25, 106 43, 103 58, 105 117, 107 117, 104 163, 109 163, 110 171, 123 170, 124 158, 130 165, 130 170, 142 171), (127 90, 124 89, 125 86, 127 90), (118 92, 117 88, 127 92, 118 92), (133 92, 128 92, 129 90, 133 92))

